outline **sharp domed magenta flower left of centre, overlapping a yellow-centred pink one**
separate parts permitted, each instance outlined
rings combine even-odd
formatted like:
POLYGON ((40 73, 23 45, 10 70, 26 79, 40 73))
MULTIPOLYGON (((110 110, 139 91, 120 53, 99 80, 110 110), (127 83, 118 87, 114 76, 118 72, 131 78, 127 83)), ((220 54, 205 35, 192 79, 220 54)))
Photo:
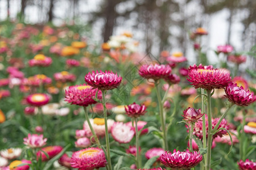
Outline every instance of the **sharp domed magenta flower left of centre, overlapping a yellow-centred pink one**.
POLYGON ((92 74, 88 73, 85 75, 85 82, 94 88, 100 90, 112 90, 117 88, 121 82, 122 77, 114 74, 112 71, 105 71, 98 73, 98 70, 92 71, 92 74))

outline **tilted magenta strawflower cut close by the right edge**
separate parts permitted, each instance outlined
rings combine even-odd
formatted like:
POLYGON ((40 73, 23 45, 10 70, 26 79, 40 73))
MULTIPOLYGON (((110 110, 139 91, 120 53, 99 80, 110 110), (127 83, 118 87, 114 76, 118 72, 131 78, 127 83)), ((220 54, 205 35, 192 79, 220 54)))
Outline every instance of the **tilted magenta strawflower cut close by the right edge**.
POLYGON ((225 97, 236 105, 247 106, 255 101, 253 92, 245 91, 242 86, 238 87, 237 84, 229 83, 225 92, 225 97))

